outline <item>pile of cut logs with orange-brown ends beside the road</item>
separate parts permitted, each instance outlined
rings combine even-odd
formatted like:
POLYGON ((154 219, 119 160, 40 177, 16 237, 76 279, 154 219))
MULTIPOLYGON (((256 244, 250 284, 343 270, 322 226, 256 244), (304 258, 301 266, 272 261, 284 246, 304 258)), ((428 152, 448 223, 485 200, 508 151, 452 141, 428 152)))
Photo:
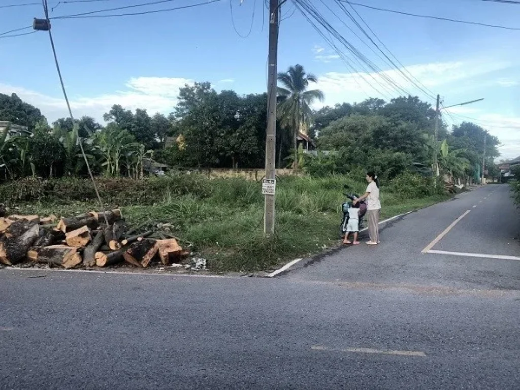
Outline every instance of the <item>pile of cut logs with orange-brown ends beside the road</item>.
POLYGON ((175 238, 153 237, 157 232, 128 230, 120 210, 60 219, 10 215, 0 217, 0 263, 30 261, 70 269, 126 262, 148 267, 154 258, 168 265, 189 254, 175 238))

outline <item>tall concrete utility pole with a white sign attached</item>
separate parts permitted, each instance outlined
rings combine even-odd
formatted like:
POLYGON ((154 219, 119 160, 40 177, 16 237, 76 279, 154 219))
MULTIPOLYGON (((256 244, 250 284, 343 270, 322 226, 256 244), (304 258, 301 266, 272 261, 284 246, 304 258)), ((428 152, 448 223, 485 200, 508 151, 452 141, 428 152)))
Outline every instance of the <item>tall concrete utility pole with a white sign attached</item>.
POLYGON ((265 179, 262 192, 264 203, 264 233, 275 232, 276 192, 276 98, 278 64, 278 15, 280 0, 269 0, 269 77, 267 85, 267 135, 265 140, 265 179))

